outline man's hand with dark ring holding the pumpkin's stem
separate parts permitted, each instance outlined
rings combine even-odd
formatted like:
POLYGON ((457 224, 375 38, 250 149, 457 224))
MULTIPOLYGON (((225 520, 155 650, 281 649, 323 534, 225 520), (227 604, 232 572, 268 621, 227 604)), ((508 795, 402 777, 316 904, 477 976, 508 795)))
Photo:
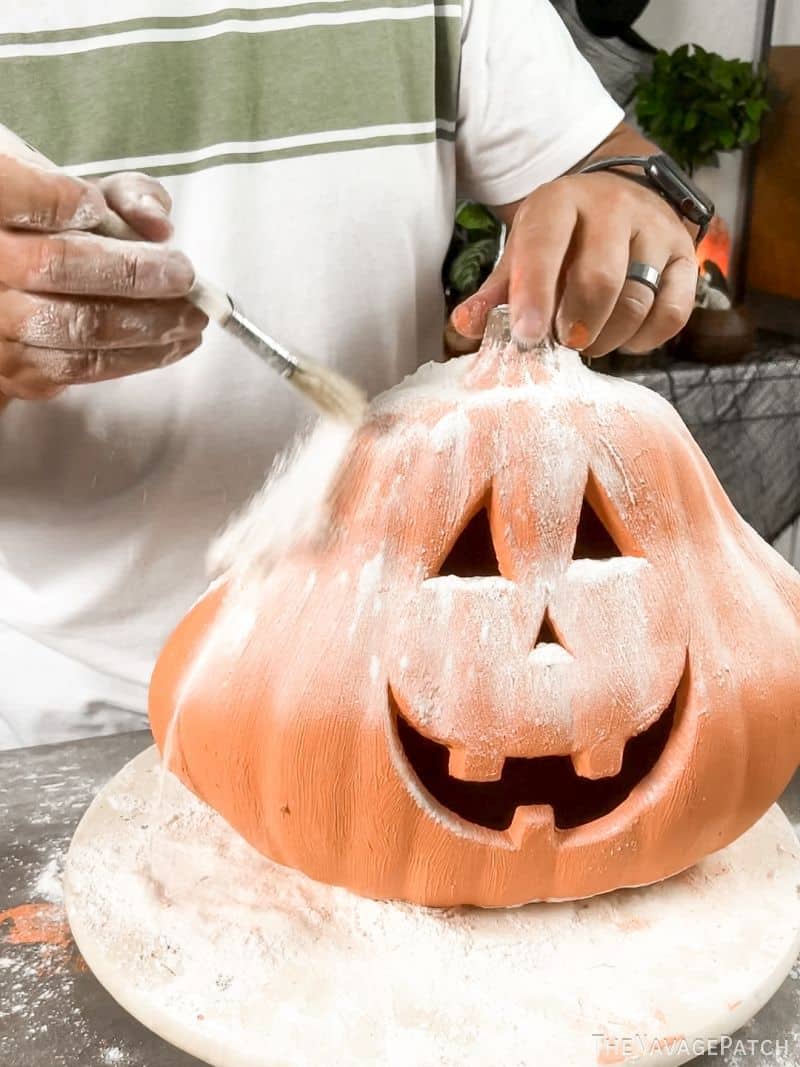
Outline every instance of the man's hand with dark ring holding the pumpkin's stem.
MULTIPOLYGON (((641 142, 635 150, 641 153, 641 142)), ((463 337, 479 339, 489 312, 502 303, 510 304, 519 344, 554 336, 591 356, 623 346, 649 351, 689 318, 698 277, 693 241, 654 190, 611 172, 570 174, 498 213, 513 219, 506 252, 453 312, 451 325, 463 337), (626 278, 635 260, 661 272, 657 296, 626 278)))

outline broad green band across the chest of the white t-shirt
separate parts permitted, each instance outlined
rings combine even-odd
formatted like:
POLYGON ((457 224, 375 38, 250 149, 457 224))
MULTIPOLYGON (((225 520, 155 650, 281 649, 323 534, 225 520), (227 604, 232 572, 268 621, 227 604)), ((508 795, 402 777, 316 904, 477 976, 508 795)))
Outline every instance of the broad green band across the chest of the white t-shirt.
MULTIPOLYGON (((375 126, 452 124, 460 34, 459 19, 429 15, 9 58, 0 60, 1 121, 73 166, 375 126)), ((325 147, 335 150, 313 150, 325 147)))

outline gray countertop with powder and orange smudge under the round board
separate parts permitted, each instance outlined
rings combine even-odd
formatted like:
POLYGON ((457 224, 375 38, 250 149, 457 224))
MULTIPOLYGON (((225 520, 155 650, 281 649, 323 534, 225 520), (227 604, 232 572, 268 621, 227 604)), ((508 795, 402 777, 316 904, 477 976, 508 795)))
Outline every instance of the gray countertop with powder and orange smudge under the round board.
MULTIPOLYGON (((98 985, 69 937, 61 904, 64 856, 83 811, 103 783, 150 743, 150 735, 141 732, 0 752, 2 1067, 199 1063, 141 1026, 98 985)), ((782 803, 798 829, 800 775, 782 803)), ((800 1065, 800 965, 737 1037, 745 1042, 738 1050, 694 1063, 698 1067, 800 1065), (775 1054, 770 1045, 762 1051, 762 1041, 785 1042, 786 1051, 775 1054)), ((320 1067, 327 1067, 323 1051, 320 1067)), ((538 1062, 535 1067, 555 1065, 538 1062)))

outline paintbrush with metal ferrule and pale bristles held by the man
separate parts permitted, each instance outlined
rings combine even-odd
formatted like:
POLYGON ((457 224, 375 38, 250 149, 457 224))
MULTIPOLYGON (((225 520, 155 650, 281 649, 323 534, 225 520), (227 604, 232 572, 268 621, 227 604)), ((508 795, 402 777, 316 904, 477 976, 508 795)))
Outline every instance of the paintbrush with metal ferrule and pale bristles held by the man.
MULTIPOLYGON (((55 163, 47 156, 4 126, 0 126, 0 152, 27 156, 41 166, 57 169, 55 163)), ((141 234, 111 210, 95 232, 102 237, 115 237, 123 241, 142 240, 141 234)), ((361 421, 367 407, 367 397, 357 385, 331 367, 290 352, 246 318, 224 289, 195 277, 187 299, 305 394, 323 414, 352 425, 361 421)))

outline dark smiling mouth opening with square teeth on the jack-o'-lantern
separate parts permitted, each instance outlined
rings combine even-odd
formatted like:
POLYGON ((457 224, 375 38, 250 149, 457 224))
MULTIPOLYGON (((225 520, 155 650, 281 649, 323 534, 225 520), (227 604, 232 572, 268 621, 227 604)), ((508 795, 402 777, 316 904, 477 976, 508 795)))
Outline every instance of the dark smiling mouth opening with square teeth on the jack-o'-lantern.
POLYGON ((642 733, 628 738, 620 773, 609 778, 581 778, 569 755, 509 757, 494 782, 470 782, 448 773, 446 745, 419 733, 400 712, 389 689, 397 737, 423 789, 454 815, 492 830, 511 826, 517 808, 548 805, 555 825, 566 830, 591 823, 618 808, 658 763, 675 724, 677 694, 642 733))

